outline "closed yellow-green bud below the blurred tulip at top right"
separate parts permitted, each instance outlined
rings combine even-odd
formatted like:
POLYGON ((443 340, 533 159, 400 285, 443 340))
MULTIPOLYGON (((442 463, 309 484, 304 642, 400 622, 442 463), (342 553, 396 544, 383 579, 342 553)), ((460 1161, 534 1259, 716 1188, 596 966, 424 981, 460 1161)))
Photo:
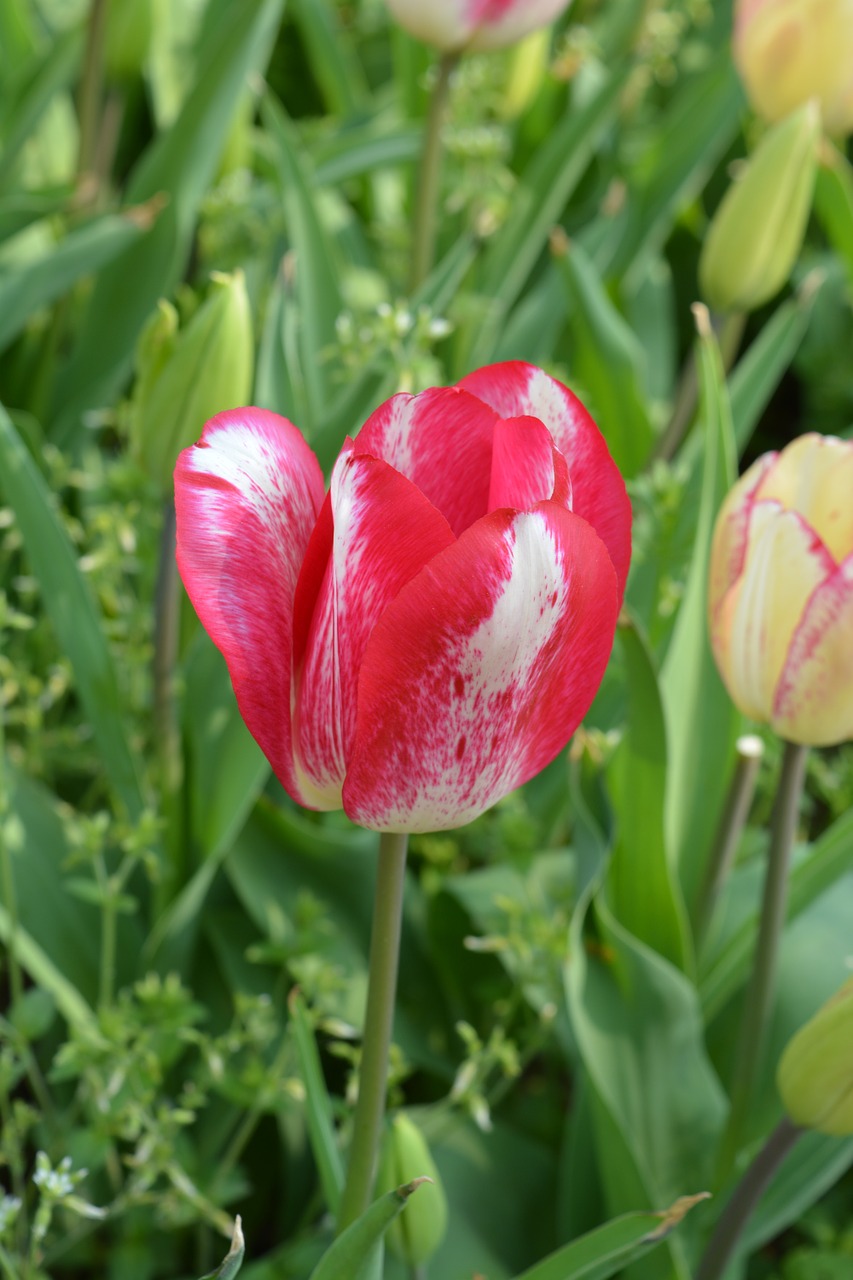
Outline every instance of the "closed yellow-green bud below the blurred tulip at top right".
POLYGON ((722 197, 699 259, 712 311, 752 311, 788 280, 812 205, 820 111, 794 111, 765 134, 722 197))

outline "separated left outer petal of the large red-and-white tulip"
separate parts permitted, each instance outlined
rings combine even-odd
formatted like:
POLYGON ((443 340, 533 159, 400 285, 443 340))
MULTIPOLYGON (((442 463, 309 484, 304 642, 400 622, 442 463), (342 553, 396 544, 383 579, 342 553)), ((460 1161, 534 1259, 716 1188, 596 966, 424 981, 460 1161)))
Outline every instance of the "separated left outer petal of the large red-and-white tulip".
POLYGON ((293 595, 323 503, 323 472, 287 419, 242 408, 211 419, 175 467, 177 557, 222 650, 241 714, 282 783, 293 767, 293 595))

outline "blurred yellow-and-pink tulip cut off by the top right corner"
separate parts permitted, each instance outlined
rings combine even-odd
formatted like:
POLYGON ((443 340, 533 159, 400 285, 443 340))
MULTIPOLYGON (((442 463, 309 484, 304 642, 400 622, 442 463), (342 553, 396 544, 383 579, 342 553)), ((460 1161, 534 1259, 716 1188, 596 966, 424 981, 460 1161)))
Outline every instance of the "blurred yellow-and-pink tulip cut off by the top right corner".
POLYGON ((734 59, 766 120, 817 99, 830 133, 853 129, 853 0, 738 0, 734 59))

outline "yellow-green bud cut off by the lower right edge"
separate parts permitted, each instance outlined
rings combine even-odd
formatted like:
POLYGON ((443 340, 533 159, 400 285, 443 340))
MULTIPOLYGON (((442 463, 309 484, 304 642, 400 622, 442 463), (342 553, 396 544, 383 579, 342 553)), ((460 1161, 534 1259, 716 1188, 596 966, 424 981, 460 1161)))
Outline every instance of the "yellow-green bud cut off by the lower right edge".
POLYGON ((794 1124, 853 1134, 853 978, 789 1041, 776 1083, 794 1124))

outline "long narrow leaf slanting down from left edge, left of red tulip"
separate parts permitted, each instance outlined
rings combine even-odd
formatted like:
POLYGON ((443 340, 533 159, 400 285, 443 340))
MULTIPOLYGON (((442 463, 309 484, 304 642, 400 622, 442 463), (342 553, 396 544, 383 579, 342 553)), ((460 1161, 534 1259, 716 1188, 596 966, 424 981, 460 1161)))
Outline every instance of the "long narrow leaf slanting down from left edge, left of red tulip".
POLYGON ((104 768, 131 818, 138 818, 142 792, 122 722, 119 682, 99 609, 50 492, 3 407, 0 490, 15 515, 45 612, 70 659, 104 768))

